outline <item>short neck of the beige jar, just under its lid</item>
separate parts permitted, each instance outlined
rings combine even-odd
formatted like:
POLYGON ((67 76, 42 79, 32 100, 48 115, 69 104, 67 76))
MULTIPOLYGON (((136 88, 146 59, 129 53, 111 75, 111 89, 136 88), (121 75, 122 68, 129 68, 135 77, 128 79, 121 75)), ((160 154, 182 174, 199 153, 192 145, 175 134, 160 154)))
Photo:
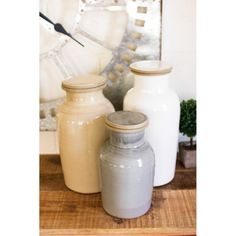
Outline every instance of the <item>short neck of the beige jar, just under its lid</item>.
POLYGON ((86 91, 86 92, 67 92, 66 101, 72 103, 95 103, 99 99, 103 98, 103 92, 101 90, 86 91))

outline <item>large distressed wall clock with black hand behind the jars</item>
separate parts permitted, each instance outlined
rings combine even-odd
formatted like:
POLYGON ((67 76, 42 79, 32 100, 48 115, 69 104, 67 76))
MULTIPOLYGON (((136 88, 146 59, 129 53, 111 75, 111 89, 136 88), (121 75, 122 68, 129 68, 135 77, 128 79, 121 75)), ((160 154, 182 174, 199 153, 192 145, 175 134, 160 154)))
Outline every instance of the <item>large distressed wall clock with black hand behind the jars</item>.
POLYGON ((161 0, 40 0, 40 12, 84 45, 40 17, 41 131, 56 129, 62 80, 102 74, 104 94, 119 110, 133 83, 129 64, 160 58, 161 0))

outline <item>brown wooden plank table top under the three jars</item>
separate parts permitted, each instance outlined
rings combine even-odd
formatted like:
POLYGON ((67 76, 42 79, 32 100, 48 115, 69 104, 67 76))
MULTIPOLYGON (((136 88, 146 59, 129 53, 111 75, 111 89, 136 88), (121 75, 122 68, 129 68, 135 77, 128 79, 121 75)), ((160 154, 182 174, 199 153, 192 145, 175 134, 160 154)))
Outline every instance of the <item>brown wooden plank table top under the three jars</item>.
POLYGON ((144 216, 106 214, 101 195, 79 194, 64 184, 60 157, 40 156, 40 235, 196 235, 196 169, 177 161, 171 183, 155 187, 144 216))

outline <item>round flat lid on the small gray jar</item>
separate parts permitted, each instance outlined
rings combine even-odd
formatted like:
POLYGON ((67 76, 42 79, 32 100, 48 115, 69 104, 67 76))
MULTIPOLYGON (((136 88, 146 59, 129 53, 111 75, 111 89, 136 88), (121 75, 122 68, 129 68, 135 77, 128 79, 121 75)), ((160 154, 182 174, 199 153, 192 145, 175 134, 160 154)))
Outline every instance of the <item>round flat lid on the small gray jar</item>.
POLYGON ((148 118, 140 112, 117 111, 106 117, 106 125, 109 129, 117 132, 137 132, 148 125, 148 118))

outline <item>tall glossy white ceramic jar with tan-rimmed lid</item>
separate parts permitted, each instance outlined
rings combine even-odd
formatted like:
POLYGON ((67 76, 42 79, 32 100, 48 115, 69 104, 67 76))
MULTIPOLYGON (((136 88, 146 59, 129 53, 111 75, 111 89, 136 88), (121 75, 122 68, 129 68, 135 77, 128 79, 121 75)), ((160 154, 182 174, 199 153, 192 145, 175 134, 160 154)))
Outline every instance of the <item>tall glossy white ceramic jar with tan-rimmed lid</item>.
POLYGON ((155 152, 154 186, 169 183, 175 174, 180 102, 169 88, 172 67, 162 61, 139 61, 130 65, 134 88, 124 98, 124 110, 148 116, 146 139, 155 152))

